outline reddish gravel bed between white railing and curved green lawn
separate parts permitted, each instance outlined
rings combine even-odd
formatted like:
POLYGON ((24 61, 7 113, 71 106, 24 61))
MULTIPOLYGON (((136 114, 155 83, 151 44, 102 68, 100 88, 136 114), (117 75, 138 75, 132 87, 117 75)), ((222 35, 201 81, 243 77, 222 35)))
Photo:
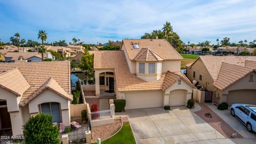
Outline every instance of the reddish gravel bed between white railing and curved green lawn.
POLYGON ((97 141, 97 138, 105 140, 111 135, 115 134, 120 127, 122 122, 120 119, 115 119, 115 123, 92 127, 92 141, 97 141))

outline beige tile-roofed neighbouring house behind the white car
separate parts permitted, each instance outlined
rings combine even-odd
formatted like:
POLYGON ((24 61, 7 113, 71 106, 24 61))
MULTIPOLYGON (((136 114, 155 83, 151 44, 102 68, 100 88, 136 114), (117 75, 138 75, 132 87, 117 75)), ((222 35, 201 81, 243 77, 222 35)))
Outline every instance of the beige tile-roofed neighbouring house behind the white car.
MULTIPOLYGON (((211 92, 207 102, 252 103, 256 105, 253 68, 246 64, 254 56, 200 56, 187 65, 188 79, 201 90, 211 92), (250 76, 252 75, 252 76, 250 76), (254 99, 254 101, 252 101, 254 99)), ((252 65, 252 64, 251 64, 252 65)))

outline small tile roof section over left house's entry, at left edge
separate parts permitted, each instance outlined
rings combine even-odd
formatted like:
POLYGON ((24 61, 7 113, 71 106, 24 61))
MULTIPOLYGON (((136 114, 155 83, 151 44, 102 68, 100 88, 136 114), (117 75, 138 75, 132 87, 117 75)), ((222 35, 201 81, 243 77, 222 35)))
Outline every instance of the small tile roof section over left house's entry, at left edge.
POLYGON ((14 68, 0 74, 0 87, 17 96, 21 96, 30 85, 23 77, 20 70, 14 68))

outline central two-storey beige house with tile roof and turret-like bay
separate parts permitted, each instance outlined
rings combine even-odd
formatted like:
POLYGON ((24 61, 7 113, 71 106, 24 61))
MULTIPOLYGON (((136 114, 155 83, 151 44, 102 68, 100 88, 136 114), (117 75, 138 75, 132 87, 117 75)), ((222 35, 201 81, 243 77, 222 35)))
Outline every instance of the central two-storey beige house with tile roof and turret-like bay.
POLYGON ((119 51, 93 52, 95 94, 115 93, 125 109, 184 106, 196 89, 165 39, 123 39, 119 51))

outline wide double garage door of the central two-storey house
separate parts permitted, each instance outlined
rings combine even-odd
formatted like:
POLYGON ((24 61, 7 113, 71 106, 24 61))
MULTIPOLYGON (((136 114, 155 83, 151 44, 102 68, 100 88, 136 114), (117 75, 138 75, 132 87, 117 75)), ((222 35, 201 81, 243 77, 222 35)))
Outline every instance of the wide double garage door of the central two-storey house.
POLYGON ((125 93, 125 109, 135 108, 154 108, 163 106, 162 91, 143 92, 143 93, 125 93))

